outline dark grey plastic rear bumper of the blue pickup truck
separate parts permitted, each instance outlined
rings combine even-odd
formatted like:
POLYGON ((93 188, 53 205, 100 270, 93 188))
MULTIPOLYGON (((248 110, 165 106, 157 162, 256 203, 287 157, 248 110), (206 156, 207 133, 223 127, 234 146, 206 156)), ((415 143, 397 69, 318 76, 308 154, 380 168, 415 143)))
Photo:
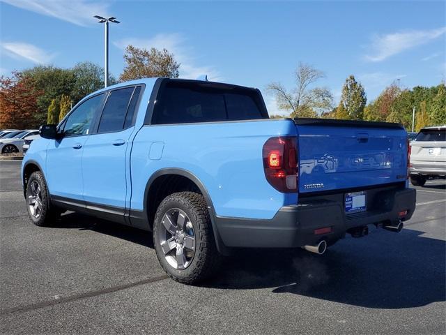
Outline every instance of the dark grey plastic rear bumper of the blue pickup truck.
POLYGON ((376 188, 367 191, 369 210, 344 213, 344 193, 304 199, 282 207, 270 220, 216 218, 225 246, 245 248, 293 248, 313 245, 325 239, 328 244, 344 237, 346 230, 372 223, 397 223, 408 220, 415 211, 416 193, 412 188, 376 188), (331 227, 328 234, 315 235, 318 228, 331 227))

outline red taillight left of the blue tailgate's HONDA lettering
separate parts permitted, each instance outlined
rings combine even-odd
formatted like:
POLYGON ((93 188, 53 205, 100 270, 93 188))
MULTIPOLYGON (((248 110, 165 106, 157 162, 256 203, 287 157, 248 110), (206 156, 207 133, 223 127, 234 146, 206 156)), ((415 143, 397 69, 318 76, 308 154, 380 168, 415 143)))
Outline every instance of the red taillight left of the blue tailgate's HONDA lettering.
POLYGON ((266 180, 277 191, 298 191, 297 138, 271 137, 263 144, 263 169, 266 180))

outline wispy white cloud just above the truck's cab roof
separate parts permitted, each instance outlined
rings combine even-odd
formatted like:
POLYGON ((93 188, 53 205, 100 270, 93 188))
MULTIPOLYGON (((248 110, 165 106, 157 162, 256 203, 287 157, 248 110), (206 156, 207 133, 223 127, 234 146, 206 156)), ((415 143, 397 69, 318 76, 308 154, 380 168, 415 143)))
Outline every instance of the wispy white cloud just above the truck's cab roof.
POLYGON ((213 66, 197 65, 198 59, 193 57, 193 50, 185 46, 185 38, 180 34, 157 34, 152 38, 124 38, 113 43, 116 47, 124 50, 127 45, 150 49, 167 49, 174 54, 180 65, 180 77, 196 79, 200 75, 208 75, 211 81, 221 81, 220 73, 213 66))

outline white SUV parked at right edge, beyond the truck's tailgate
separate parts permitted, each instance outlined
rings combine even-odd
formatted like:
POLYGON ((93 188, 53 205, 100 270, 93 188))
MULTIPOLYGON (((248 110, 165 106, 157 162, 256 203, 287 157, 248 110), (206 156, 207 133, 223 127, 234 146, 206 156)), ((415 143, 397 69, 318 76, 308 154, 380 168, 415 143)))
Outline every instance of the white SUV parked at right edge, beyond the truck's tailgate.
POLYGON ((429 178, 446 177, 446 126, 422 128, 410 147, 413 185, 423 186, 429 178))

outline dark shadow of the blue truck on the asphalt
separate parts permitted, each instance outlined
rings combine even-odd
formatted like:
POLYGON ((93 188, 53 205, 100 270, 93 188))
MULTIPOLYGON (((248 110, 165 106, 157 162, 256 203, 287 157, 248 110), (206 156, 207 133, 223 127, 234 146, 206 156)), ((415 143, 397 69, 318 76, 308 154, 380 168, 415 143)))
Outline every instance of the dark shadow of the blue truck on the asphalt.
MULTIPOLYGON (((151 232, 80 214, 65 214, 54 228, 77 228, 153 248, 151 232)), ((216 276, 201 287, 249 290, 272 288, 367 308, 412 308, 446 301, 446 242, 404 229, 371 230, 346 239, 324 255, 302 249, 240 249, 224 258, 216 276)))

